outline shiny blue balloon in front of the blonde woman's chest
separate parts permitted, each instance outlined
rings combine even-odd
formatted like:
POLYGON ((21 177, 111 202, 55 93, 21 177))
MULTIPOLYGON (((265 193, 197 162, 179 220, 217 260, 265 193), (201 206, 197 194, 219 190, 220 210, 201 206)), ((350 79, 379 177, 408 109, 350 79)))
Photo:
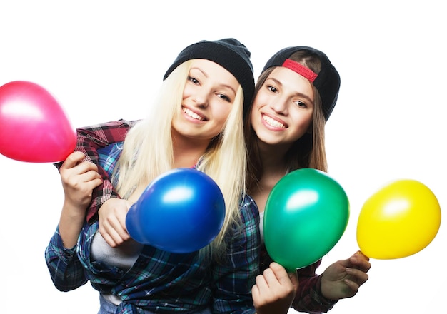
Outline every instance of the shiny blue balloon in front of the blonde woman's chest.
POLYGON ((154 179, 126 216, 129 235, 171 253, 204 248, 224 224, 225 201, 216 182, 201 171, 176 168, 154 179))

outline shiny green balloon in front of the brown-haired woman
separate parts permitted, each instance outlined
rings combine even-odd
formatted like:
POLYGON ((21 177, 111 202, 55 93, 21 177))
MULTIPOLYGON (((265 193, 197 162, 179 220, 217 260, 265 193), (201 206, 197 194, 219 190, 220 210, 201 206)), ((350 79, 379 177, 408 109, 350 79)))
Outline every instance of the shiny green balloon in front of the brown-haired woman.
POLYGON ((298 169, 267 198, 263 231, 271 258, 287 270, 320 260, 340 240, 349 220, 345 191, 323 171, 298 169))

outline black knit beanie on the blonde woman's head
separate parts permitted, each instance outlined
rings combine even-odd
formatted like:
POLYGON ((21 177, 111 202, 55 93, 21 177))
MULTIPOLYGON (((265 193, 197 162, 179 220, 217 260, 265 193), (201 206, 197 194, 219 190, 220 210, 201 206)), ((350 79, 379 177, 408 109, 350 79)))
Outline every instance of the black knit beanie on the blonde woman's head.
POLYGON ((177 66, 191 59, 206 59, 216 62, 227 69, 241 84, 243 89, 243 114, 245 116, 254 93, 253 65, 250 61, 250 51, 237 39, 227 38, 216 41, 199 41, 187 46, 174 64, 172 64, 164 80, 177 66))

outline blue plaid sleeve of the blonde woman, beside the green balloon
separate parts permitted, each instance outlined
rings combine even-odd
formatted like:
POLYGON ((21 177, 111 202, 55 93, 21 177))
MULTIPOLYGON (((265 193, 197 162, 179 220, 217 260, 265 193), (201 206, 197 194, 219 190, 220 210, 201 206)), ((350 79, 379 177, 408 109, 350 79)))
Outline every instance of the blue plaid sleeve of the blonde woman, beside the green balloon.
POLYGON ((226 263, 214 268, 213 313, 254 313, 251 288, 259 274, 259 212, 246 196, 241 206, 242 223, 228 235, 226 263))

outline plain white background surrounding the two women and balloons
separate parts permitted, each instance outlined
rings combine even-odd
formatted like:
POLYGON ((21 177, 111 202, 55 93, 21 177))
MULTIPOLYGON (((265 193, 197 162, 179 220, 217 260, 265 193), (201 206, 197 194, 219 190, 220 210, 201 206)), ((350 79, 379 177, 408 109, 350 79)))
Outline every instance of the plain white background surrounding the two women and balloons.
MULTIPOLYGON (((326 125, 329 170, 348 193, 351 218, 322 271, 358 250, 361 206, 383 184, 421 181, 447 206, 444 12, 431 0, 2 0, 0 85, 39 83, 79 127, 144 118, 176 54, 201 39, 242 41, 256 76, 285 46, 325 51, 342 81, 326 125)), ((96 313, 89 284, 61 293, 46 269, 63 199, 56 168, 0 156, 0 172, 1 312, 96 313)), ((421 252, 372 259, 368 282, 331 313, 443 312, 446 243, 441 223, 421 252)))

